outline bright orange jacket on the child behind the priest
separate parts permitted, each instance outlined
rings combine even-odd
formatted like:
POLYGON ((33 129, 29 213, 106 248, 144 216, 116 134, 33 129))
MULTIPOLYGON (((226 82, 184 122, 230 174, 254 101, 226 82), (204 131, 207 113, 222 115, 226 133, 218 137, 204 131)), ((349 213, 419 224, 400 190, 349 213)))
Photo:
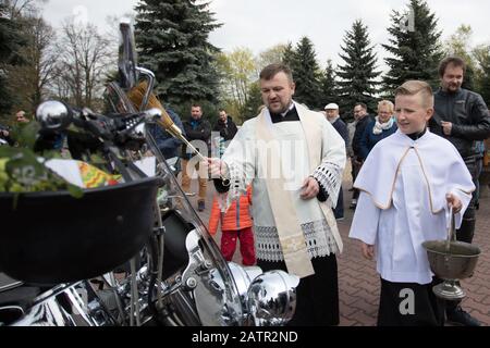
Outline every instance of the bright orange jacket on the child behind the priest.
POLYGON ((252 204, 252 186, 247 187, 246 195, 242 195, 234 201, 225 213, 221 213, 218 198, 212 200, 209 214, 209 233, 215 235, 221 221, 221 231, 238 231, 252 226, 252 217, 248 207, 252 204))

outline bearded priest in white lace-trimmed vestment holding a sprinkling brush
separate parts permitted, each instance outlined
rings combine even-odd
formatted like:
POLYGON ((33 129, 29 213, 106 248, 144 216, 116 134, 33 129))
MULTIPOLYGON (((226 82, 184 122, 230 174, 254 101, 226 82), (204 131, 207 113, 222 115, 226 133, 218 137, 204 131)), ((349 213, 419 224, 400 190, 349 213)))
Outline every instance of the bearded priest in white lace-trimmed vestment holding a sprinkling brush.
POLYGON ((291 70, 260 73, 264 108, 244 123, 221 161, 209 159, 225 210, 253 185, 257 265, 302 279, 291 325, 335 325, 335 253, 342 239, 332 213, 345 166, 345 144, 319 112, 293 101, 291 70), (226 186, 228 185, 228 186, 226 186))

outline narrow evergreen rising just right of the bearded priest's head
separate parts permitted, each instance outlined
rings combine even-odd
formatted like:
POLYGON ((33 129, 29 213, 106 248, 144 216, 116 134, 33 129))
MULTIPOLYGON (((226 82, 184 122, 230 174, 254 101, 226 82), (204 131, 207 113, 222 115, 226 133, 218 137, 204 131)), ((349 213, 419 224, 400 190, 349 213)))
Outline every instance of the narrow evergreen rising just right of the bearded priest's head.
POLYGON ((294 99, 315 109, 323 100, 320 86, 320 67, 318 66, 314 45, 306 36, 296 46, 291 62, 296 91, 294 99))

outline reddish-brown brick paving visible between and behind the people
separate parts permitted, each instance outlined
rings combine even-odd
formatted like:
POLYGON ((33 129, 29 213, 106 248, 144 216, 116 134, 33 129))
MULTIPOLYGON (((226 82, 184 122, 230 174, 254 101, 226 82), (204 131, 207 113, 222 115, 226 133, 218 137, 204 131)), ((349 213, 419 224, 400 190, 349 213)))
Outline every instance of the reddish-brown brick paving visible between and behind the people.
MULTIPOLYGON (((348 207, 352 194, 348 176, 344 182, 344 202, 348 207)), ((197 191, 197 183, 192 189, 197 191)), ((211 208, 215 188, 211 182, 208 186, 208 199, 206 210, 199 216, 207 224, 211 208)), ((196 207, 196 199, 191 199, 196 207)), ((342 326, 372 326, 376 325, 380 281, 375 270, 375 261, 368 261, 360 254, 357 240, 350 239, 348 228, 353 211, 345 209, 345 220, 339 222, 339 229, 344 241, 344 252, 339 257, 339 289, 340 313, 342 326)), ((219 244, 220 234, 216 236, 219 244)), ((471 315, 481 321, 482 325, 490 325, 490 198, 485 197, 477 212, 476 236, 474 244, 480 247, 482 254, 479 258, 475 275, 462 282, 467 296, 463 300, 463 307, 471 315)), ((233 261, 241 263, 240 252, 236 251, 233 261)))

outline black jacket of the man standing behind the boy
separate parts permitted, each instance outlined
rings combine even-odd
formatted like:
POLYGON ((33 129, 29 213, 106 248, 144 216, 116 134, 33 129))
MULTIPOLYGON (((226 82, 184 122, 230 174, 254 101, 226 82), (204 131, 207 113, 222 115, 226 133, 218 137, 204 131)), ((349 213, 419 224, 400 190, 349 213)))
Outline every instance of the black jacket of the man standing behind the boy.
POLYGON ((461 88, 455 94, 439 89, 434 94, 434 114, 429 121, 430 132, 450 140, 467 160, 478 154, 475 140, 490 137, 490 116, 480 95, 461 88), (451 135, 444 135, 441 121, 453 124, 451 135))

